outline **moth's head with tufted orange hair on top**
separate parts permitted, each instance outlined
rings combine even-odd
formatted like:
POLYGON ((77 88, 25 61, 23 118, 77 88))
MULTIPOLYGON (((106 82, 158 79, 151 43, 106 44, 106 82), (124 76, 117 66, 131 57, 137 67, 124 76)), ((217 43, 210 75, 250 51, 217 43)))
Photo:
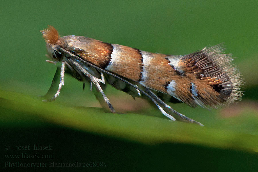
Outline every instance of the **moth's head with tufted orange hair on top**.
POLYGON ((64 41, 60 38, 60 35, 58 35, 58 31, 53 26, 48 25, 47 29, 43 29, 40 32, 43 34, 43 38, 46 41, 49 57, 54 61, 60 61, 62 58, 60 47, 63 47, 64 41))

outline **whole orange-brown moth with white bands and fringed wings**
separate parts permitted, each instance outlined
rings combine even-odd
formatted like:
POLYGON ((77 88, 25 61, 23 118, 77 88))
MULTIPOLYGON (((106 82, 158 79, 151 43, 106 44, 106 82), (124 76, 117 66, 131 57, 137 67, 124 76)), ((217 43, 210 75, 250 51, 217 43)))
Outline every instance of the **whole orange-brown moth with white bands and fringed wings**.
POLYGON ((64 71, 68 71, 77 80, 90 82, 91 89, 95 85, 111 112, 115 112, 114 107, 102 89, 106 82, 133 97, 151 100, 170 120, 175 121, 173 113, 184 121, 203 126, 165 102, 216 108, 229 105, 242 95, 241 74, 231 55, 224 54, 220 45, 187 55, 166 55, 84 36, 60 37, 52 26, 41 32, 52 59, 46 61, 62 63, 58 90, 54 97, 44 101, 58 97, 64 85, 64 71))

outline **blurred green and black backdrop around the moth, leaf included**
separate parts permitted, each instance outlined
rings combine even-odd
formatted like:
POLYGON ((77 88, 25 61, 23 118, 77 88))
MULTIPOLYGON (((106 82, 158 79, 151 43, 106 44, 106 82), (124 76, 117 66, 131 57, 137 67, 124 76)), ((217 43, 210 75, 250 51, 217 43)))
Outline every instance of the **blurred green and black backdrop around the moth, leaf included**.
MULTIPOLYGON (((257 171, 257 1, 1 1, 1 164, 48 163, 37 171, 257 171), (89 84, 66 75, 60 96, 43 103, 56 67, 46 63, 40 30, 78 35, 149 52, 181 55, 223 42, 245 80, 244 97, 220 110, 170 104, 205 125, 171 122, 108 86, 120 114, 105 113, 89 84), (48 145, 53 150, 5 149, 48 145), (54 159, 10 159, 7 154, 54 159), (103 162, 106 167, 49 167, 103 162)), ((60 66, 60 64, 57 64, 60 66)), ((16 168, 16 171, 23 168, 16 168)))

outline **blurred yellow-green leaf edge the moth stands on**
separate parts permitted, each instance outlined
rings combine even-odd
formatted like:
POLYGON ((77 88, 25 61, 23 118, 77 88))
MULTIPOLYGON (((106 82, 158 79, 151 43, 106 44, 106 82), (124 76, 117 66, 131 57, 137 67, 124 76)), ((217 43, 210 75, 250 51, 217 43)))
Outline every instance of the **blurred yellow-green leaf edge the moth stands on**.
MULTIPOLYGON (((15 92, 0 91, 0 97, 3 111, 1 125, 4 126, 17 126, 23 122, 27 126, 37 125, 44 120, 81 131, 146 144, 190 143, 258 152, 257 130, 244 129, 250 121, 254 128, 257 126, 257 112, 249 112, 245 117, 242 115, 220 120, 216 120, 214 116, 208 118, 208 115, 200 115, 200 117, 206 116, 203 119, 197 119, 206 125, 201 127, 142 114, 112 114, 105 113, 101 108, 68 107, 56 102, 44 103, 41 99, 15 92), (16 115, 13 112, 17 112, 16 115), (18 116, 20 112, 26 115, 18 116)), ((192 108, 189 110, 194 112, 192 108)), ((201 111, 197 109, 197 112, 201 111)), ((159 113, 159 111, 155 112, 159 113)))

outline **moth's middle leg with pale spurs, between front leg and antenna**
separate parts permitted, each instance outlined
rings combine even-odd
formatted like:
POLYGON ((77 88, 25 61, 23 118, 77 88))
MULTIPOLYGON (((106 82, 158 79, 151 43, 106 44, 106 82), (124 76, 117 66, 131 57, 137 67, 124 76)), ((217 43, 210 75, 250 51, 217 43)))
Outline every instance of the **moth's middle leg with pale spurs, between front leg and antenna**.
POLYGON ((91 80, 91 90, 92 90, 92 83, 95 84, 97 90, 101 93, 102 97, 104 98, 104 100, 107 103, 108 107, 110 108, 111 112, 115 113, 116 111, 114 110, 114 107, 112 106, 109 99, 107 98, 107 96, 105 95, 105 93, 103 92, 102 88, 99 85, 100 82, 105 83, 104 78, 99 79, 99 78, 94 77, 88 71, 86 71, 80 64, 78 64, 76 61, 74 61, 72 59, 69 59, 69 60, 70 60, 70 62, 72 62, 75 65, 75 67, 79 71, 81 71, 86 77, 88 77, 91 80))

